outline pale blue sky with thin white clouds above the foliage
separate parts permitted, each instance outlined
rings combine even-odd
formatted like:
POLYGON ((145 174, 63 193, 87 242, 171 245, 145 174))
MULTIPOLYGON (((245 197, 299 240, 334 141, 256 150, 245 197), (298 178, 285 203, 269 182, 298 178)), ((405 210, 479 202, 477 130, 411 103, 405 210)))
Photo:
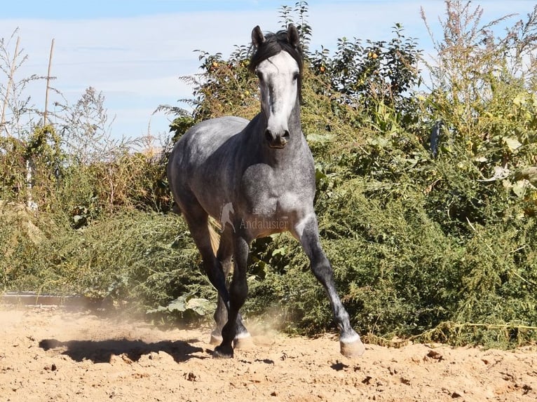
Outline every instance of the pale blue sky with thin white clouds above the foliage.
MULTIPOLYGON (((17 0, 5 1, 0 13, 0 37, 6 41, 18 28, 23 53, 28 55, 15 78, 45 76, 50 41, 55 39, 52 85, 69 103, 76 102, 89 86, 102 91, 115 137, 140 137, 151 130, 168 132, 170 117, 151 113, 159 104, 177 104, 191 96, 191 88, 179 76, 196 74, 198 58, 193 50, 209 53, 246 45, 255 25, 274 31, 282 5, 295 1, 208 0, 17 0), (151 128, 148 129, 149 125, 151 128)), ((420 18, 423 7, 436 30, 444 2, 421 1, 321 1, 311 0, 308 22, 313 27, 311 48, 333 50, 337 39, 391 39, 396 22, 420 48, 431 50, 420 18)), ((473 1, 484 8, 484 21, 508 13, 522 18, 535 1, 473 1)), ((514 22, 515 19, 512 20, 514 22)), ((440 35, 440 31, 437 32, 440 35)), ((14 48, 14 41, 11 49, 14 48)), ((0 73, 0 82, 6 82, 0 73)), ((25 95, 44 109, 43 82, 36 82, 25 95)), ((56 95, 53 95, 53 97, 56 95)), ((55 99, 49 102, 53 104, 55 99)))

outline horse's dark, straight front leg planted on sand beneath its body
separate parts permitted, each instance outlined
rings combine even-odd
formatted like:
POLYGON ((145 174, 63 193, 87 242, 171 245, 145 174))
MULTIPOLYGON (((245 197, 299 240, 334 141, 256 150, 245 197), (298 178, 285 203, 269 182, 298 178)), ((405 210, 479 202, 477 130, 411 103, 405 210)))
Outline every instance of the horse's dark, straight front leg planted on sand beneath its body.
MULTIPOLYGON (((233 240, 233 279, 229 285, 229 311, 228 321, 222 328, 222 343, 215 347, 215 357, 229 359, 233 357, 233 340, 237 335, 237 319, 240 307, 246 300, 248 284, 246 282, 246 268, 250 247, 244 237, 236 235, 233 240)), ((240 335, 240 334, 239 334, 240 335)))

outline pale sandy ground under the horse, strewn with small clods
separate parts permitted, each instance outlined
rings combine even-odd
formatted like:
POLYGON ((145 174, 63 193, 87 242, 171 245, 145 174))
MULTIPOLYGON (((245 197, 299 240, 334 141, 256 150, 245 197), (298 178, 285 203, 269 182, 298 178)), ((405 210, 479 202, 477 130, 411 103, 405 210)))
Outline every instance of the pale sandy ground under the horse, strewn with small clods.
MULTIPOLYGON (((252 331, 253 332, 253 331, 252 331)), ((537 348, 367 345, 257 335, 212 359, 209 328, 0 306, 0 401, 536 401, 537 348)))

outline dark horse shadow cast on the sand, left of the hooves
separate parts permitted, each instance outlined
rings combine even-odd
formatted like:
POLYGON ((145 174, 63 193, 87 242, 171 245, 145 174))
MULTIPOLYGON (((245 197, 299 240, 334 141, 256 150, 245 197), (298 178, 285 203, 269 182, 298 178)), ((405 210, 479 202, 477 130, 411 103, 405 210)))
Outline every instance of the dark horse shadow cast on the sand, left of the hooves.
MULTIPOLYGON (((196 342, 197 340, 190 340, 196 342)), ((39 347, 47 351, 49 349, 64 349, 62 354, 69 356, 75 361, 90 360, 93 363, 110 363, 112 355, 127 356, 131 361, 139 361, 140 358, 151 352, 165 352, 173 357, 176 363, 189 359, 206 359, 206 356, 198 356, 196 353, 203 352, 203 348, 190 345, 184 340, 161 340, 160 342, 144 342, 143 340, 68 340, 43 339, 39 347)), ((151 358, 151 356, 150 356, 151 358)))

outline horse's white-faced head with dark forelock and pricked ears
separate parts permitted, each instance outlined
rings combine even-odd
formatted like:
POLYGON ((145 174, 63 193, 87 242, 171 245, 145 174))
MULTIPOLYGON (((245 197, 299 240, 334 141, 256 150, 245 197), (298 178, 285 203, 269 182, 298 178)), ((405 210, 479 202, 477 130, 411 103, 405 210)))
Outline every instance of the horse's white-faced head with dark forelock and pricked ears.
POLYGON ((264 136, 271 148, 283 148, 290 141, 289 120, 298 113, 302 77, 302 52, 294 25, 287 31, 263 35, 252 31, 255 48, 250 70, 259 78, 261 111, 266 117, 264 136))

